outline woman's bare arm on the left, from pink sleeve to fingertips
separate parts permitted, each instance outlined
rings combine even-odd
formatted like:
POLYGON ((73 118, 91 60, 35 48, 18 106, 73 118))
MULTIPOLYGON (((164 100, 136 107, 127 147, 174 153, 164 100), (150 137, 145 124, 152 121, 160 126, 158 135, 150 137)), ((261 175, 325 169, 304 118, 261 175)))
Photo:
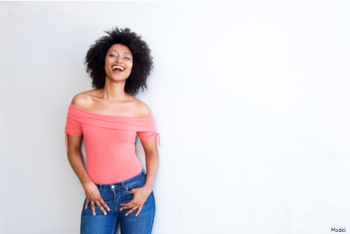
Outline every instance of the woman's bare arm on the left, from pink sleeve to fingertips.
POLYGON ((83 156, 80 150, 82 135, 73 136, 69 135, 68 133, 66 135, 69 146, 69 151, 67 151, 69 163, 71 164, 73 171, 76 172, 76 175, 78 176, 80 183, 83 185, 85 190, 85 209, 87 209, 87 205, 89 205, 89 202, 91 202, 92 214, 96 215, 94 209, 94 205, 96 204, 106 215, 107 213, 104 207, 109 211, 109 206, 102 199, 101 194, 99 193, 99 188, 97 188, 96 184, 92 182, 84 167, 83 156))

